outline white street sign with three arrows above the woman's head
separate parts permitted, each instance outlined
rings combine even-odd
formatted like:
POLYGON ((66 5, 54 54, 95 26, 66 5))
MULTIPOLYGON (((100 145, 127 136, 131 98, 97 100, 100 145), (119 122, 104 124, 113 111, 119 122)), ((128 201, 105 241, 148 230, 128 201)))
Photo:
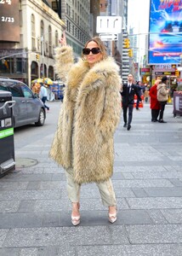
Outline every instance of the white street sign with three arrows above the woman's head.
POLYGON ((97 33, 121 33, 121 16, 97 16, 97 33))

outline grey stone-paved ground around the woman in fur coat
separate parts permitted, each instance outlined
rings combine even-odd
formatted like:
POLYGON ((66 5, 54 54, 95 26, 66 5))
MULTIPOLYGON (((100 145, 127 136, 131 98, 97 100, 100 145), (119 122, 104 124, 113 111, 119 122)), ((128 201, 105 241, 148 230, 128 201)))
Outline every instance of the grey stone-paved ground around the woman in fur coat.
POLYGON ((15 132, 16 171, 0 179, 0 256, 181 256, 182 117, 168 105, 168 123, 152 123, 146 104, 134 109, 130 131, 121 118, 112 177, 117 222, 109 223, 97 187, 87 184, 74 227, 64 170, 48 159, 58 104, 49 104, 44 137, 26 143, 15 132))

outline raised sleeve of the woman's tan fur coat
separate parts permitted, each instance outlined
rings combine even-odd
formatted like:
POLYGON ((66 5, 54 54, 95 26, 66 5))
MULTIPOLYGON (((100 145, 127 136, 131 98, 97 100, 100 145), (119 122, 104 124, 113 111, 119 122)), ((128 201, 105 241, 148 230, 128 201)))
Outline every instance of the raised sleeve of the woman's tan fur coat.
POLYGON ((71 46, 66 45, 55 49, 55 72, 61 81, 65 83, 71 66, 74 63, 73 50, 71 46))

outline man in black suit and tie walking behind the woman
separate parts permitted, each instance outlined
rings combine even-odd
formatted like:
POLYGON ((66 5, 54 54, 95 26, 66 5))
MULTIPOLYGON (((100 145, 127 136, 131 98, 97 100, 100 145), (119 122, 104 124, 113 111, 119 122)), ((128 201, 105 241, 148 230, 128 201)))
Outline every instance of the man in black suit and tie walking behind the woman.
POLYGON ((134 109, 134 95, 139 97, 141 102, 141 97, 139 96, 139 90, 135 84, 133 84, 133 75, 128 74, 128 83, 122 84, 122 110, 123 110, 123 127, 127 127, 129 131, 131 129, 133 109, 134 109), (127 123, 127 112, 128 112, 128 123, 127 123))

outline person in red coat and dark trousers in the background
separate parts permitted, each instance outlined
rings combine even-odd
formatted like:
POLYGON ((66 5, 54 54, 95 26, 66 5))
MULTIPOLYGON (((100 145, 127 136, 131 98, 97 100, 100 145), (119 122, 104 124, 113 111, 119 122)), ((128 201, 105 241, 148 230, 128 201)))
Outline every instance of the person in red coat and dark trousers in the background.
POLYGON ((160 103, 157 101, 157 90, 156 87, 157 85, 161 82, 160 79, 157 79, 155 84, 151 87, 151 90, 149 91, 149 95, 151 97, 151 122, 156 122, 158 121, 158 115, 160 112, 160 103))

